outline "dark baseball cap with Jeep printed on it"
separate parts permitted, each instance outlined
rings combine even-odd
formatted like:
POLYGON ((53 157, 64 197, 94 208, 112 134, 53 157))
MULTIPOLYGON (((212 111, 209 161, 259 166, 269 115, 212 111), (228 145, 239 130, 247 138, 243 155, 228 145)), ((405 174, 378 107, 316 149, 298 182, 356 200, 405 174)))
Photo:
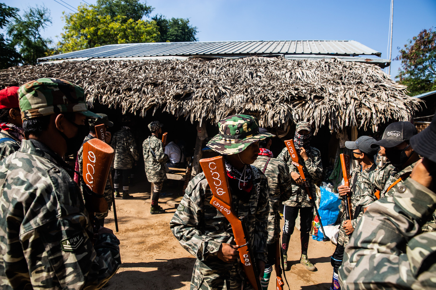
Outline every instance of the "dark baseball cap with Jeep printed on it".
POLYGON ((418 131, 416 130, 415 125, 412 123, 404 121, 395 122, 386 127, 381 140, 372 143, 371 148, 375 148, 377 146, 392 148, 403 143, 404 141, 410 140, 410 138, 417 133, 418 131))

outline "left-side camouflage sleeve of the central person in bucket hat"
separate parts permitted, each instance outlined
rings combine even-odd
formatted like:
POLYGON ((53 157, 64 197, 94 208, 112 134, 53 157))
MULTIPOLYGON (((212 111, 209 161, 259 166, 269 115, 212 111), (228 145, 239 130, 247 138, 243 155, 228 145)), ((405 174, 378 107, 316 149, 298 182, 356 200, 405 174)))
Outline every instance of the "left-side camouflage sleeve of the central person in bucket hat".
POLYGON ((204 234, 206 221, 203 198, 205 193, 210 196, 212 193, 207 182, 199 184, 202 178, 204 174, 200 173, 188 184, 185 195, 170 221, 170 228, 185 250, 198 260, 204 261, 209 256, 217 256, 221 243, 228 243, 230 237, 211 237, 204 234))

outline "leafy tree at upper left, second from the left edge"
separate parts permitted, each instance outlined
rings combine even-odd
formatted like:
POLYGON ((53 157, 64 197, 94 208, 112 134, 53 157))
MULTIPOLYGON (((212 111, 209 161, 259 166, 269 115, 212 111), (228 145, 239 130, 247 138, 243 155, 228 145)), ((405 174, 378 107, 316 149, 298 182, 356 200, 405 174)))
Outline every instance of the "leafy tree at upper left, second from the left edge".
POLYGON ((37 6, 24 10, 23 17, 15 17, 14 23, 8 26, 11 45, 19 48, 20 63, 35 64, 38 57, 45 56, 51 39, 43 38, 41 30, 47 27, 47 23, 51 23, 50 10, 37 6))

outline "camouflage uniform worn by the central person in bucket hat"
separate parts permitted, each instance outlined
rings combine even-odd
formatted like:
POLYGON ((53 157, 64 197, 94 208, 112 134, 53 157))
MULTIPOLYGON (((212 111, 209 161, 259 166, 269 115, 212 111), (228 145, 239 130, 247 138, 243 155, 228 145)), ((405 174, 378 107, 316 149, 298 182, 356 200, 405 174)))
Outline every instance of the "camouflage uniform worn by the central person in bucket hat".
MULTIPOLYGON (((238 216, 246 217, 255 258, 266 261, 268 183, 263 174, 254 182, 247 201, 232 194, 232 208, 238 216)), ((212 192, 204 173, 196 175, 189 182, 170 222, 171 230, 181 246, 197 258, 191 289, 242 289, 242 286, 244 289, 253 289, 245 283, 246 277, 239 258, 233 263, 225 263, 218 258, 221 243, 235 244, 235 241, 230 223, 210 204, 211 197, 212 192)))

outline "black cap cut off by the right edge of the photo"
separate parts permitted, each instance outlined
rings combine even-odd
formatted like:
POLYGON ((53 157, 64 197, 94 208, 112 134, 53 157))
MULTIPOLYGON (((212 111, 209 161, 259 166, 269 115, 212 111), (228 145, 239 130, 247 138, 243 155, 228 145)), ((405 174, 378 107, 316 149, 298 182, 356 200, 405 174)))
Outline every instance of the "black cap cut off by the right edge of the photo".
POLYGON ((436 162, 436 118, 429 127, 410 138, 410 145, 419 155, 436 162))

